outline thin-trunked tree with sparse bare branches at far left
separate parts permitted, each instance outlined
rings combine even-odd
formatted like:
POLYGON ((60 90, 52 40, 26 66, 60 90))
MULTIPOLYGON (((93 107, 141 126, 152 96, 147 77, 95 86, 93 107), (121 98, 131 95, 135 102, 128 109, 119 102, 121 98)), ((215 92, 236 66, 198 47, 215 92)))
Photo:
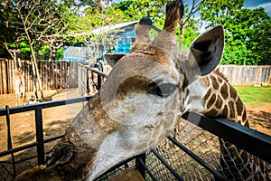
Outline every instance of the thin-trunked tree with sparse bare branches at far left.
POLYGON ((63 6, 58 4, 56 0, 14 0, 6 1, 1 5, 1 8, 5 10, 2 13, 10 15, 10 18, 6 18, 5 23, 8 24, 5 25, 7 34, 11 32, 9 35, 14 36, 8 39, 1 38, 4 39, 3 42, 5 42, 5 47, 8 51, 10 49, 8 44, 28 43, 33 62, 35 95, 38 99, 37 80, 43 100, 42 82, 40 81, 37 66, 37 52, 41 49, 42 43, 47 43, 52 48, 55 48, 53 43, 59 40, 56 37, 61 37, 61 33, 67 28, 68 22, 66 21, 65 14, 63 14, 63 9, 61 9, 63 6))

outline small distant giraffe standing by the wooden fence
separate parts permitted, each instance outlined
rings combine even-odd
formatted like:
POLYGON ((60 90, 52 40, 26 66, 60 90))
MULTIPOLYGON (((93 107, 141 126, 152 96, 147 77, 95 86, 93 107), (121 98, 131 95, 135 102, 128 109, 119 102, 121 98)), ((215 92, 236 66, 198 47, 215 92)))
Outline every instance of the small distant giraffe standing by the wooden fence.
POLYGON ((23 75, 17 69, 15 69, 15 71, 14 71, 13 87, 14 87, 15 97, 16 97, 16 106, 20 106, 21 105, 21 97, 23 98, 23 103, 24 103, 26 96, 25 96, 23 75))

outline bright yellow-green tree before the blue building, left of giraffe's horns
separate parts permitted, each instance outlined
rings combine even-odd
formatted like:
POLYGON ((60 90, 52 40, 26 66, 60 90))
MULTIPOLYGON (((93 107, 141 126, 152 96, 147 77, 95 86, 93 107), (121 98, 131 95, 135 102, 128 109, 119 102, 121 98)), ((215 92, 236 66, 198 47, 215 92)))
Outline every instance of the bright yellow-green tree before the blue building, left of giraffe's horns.
POLYGON ((121 22, 121 15, 118 14, 121 13, 110 7, 105 9, 89 7, 84 10, 83 15, 73 17, 74 25, 69 32, 70 42, 83 43, 87 47, 89 62, 101 56, 99 50, 103 46, 114 47, 115 33, 107 29, 121 22))

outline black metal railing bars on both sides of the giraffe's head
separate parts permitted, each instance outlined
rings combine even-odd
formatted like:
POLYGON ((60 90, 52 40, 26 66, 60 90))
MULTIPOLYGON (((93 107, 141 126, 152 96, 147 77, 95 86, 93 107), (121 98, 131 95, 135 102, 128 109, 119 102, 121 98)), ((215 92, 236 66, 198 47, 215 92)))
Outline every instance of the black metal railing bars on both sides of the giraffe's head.
MULTIPOLYGON (((42 128, 42 109, 47 109, 51 107, 57 107, 72 103, 77 103, 80 101, 86 101, 91 99, 91 97, 81 97, 77 99, 70 99, 70 100, 57 100, 57 101, 51 101, 51 102, 44 102, 39 104, 33 104, 33 105, 27 105, 27 106, 21 106, 21 107, 14 107, 9 108, 8 106, 5 109, 0 109, 0 116, 6 117, 6 127, 7 127, 7 150, 0 152, 0 157, 5 156, 11 156, 11 165, 13 166, 12 170, 9 170, 10 174, 14 177, 16 176, 15 168, 16 164, 18 162, 14 159, 14 153, 36 147, 37 149, 37 155, 33 157, 37 157, 37 164, 41 165, 44 163, 44 155, 46 154, 44 151, 44 144, 51 142, 52 140, 56 140, 58 138, 61 138, 62 135, 58 135, 56 137, 52 138, 43 138, 43 128, 42 128), (11 126, 10 126, 10 115, 15 113, 20 113, 24 111, 34 110, 35 112, 35 128, 36 128, 36 141, 24 145, 22 147, 13 148, 12 139, 11 139, 11 126)), ((199 113, 186 113, 182 115, 182 119, 186 119, 187 121, 191 122, 197 127, 200 127, 204 131, 208 131, 213 135, 216 135, 220 138, 223 138, 226 141, 229 141, 233 143, 234 145, 238 146, 238 148, 242 148, 249 153, 261 158, 262 160, 265 160, 266 163, 271 163, 271 137, 267 136, 266 134, 260 133, 257 130, 249 129, 246 127, 243 127, 237 123, 231 122, 227 119, 222 118, 216 118, 211 119, 209 117, 206 117, 199 113)), ((214 167, 210 167, 209 164, 203 160, 201 157, 199 157, 197 154, 193 153, 192 150, 187 148, 185 145, 183 145, 179 140, 174 138, 173 136, 167 136, 166 137, 168 141, 170 141, 176 148, 181 149, 183 152, 185 152, 189 157, 192 157, 193 160, 195 160, 199 165, 204 167, 208 172, 210 172, 211 175, 220 178, 220 180, 227 180, 225 176, 221 175, 219 171, 217 171, 214 167)), ((174 148, 175 149, 175 148, 174 148)), ((128 168, 130 162, 133 162, 135 167, 137 167, 140 174, 146 179, 150 180, 161 180, 161 177, 157 178, 154 173, 154 169, 148 165, 147 160, 150 159, 150 155, 153 155, 159 160, 159 164, 163 165, 164 169, 166 169, 168 172, 167 174, 170 174, 174 177, 175 180, 185 180, 182 178, 182 175, 176 171, 174 167, 172 167, 172 164, 168 162, 168 157, 164 158, 162 156, 161 152, 157 151, 156 148, 151 148, 148 153, 131 157, 127 159, 126 161, 123 161, 121 163, 118 163, 115 167, 110 168, 107 170, 105 174, 102 176, 99 176, 98 180, 105 180, 108 178, 108 175, 114 170, 124 170, 128 168), (120 167, 123 167, 119 169, 120 167)), ((174 152, 174 154, 176 154, 174 152)), ((169 157, 173 157, 174 155, 170 155, 169 157)), ((20 162, 23 162, 27 160, 23 159, 20 160, 20 162)), ((5 162, 6 163, 6 162, 5 162)), ((1 164, 1 162, 0 162, 1 164)), ((270 168, 270 167, 269 167, 270 168)), ((1 177, 0 177, 1 178, 1 177)), ((166 180, 166 178, 164 178, 166 180)))

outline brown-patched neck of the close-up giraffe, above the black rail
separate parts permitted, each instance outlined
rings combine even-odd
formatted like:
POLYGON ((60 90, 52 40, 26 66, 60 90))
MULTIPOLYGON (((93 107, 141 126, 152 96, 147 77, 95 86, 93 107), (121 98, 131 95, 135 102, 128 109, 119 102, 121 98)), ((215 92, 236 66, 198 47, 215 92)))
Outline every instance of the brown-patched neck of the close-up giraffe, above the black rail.
POLYGON ((246 108, 237 91, 215 73, 193 81, 185 94, 183 113, 194 111, 210 117, 221 116, 249 127, 246 108))

